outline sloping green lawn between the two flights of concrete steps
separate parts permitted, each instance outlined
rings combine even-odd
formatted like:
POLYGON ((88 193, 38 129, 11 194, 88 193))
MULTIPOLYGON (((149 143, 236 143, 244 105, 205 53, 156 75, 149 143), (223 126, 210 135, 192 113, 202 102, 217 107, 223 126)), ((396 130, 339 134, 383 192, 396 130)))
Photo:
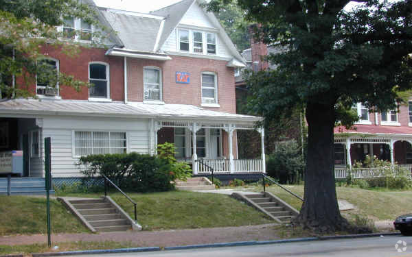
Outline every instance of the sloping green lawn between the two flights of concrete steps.
MULTIPOLYGON (((144 230, 215 228, 273 222, 262 212, 229 197, 212 193, 171 191, 130 195, 137 202, 137 220, 144 230)), ((133 204, 112 195, 130 217, 133 204)))

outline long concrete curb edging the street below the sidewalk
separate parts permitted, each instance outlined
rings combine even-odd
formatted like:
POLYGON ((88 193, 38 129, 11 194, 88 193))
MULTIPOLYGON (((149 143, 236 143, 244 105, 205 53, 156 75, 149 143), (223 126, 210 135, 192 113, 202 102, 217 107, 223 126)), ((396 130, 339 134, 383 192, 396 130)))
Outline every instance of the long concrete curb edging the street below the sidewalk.
MULTIPOLYGON (((231 247, 231 246, 247 246, 247 245, 269 245, 279 243, 296 243, 296 242, 309 242, 309 241, 325 241, 344 238, 366 238, 376 236, 399 236, 400 233, 374 233, 374 234, 347 234, 341 236, 316 236, 316 237, 303 237, 303 238, 290 238, 273 241, 240 241, 229 243, 211 243, 203 245, 180 245, 164 247, 165 251, 182 250, 182 249, 200 249, 200 248, 212 248, 212 247, 231 247)), ((77 254, 117 254, 126 252, 154 252, 161 251, 160 247, 137 247, 137 248, 121 248, 121 249, 104 249, 104 250, 87 250, 87 251, 73 251, 73 252, 49 252, 42 254, 32 254, 33 257, 45 257, 45 256, 67 256, 77 254)), ((17 255, 20 257, 20 255, 17 255)), ((0 256, 3 257, 3 256, 0 256)), ((10 256, 5 256, 10 257, 10 256)))

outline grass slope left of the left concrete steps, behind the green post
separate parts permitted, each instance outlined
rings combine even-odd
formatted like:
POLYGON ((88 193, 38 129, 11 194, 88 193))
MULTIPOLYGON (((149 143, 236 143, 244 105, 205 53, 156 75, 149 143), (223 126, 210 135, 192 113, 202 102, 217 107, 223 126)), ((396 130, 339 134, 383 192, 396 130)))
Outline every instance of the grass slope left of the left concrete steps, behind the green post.
MULTIPOLYGON (((47 232, 46 199, 43 197, 0 196, 0 235, 41 234, 47 232)), ((52 232, 88 232, 71 213, 55 199, 50 199, 52 232)))

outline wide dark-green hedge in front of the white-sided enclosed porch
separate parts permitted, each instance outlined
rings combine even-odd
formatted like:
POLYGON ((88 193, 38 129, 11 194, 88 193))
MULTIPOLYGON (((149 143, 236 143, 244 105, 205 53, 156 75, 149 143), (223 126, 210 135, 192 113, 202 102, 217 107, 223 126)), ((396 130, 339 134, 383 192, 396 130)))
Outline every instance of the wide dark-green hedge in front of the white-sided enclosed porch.
POLYGON ((119 188, 128 191, 169 191, 174 189, 170 182, 176 179, 172 164, 148 154, 82 156, 78 165, 87 178, 104 174, 119 188))

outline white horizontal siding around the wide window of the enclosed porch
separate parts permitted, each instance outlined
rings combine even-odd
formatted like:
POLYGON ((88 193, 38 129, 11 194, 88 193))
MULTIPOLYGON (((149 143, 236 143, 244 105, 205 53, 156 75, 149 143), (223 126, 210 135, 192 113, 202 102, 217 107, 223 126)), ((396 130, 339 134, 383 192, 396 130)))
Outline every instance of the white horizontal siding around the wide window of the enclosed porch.
POLYGON ((54 178, 82 175, 76 167, 78 158, 73 158, 72 153, 72 135, 76 130, 126 132, 129 152, 148 153, 148 120, 45 118, 43 140, 45 137, 52 138, 52 175, 54 178))

